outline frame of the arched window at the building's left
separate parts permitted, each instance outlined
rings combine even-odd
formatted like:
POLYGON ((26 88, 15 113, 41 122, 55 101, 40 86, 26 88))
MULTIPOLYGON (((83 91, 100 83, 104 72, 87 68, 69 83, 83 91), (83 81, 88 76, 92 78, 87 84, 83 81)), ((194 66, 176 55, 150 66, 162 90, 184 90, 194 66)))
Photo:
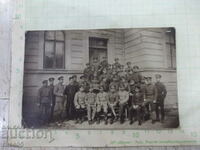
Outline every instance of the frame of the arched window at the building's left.
POLYGON ((43 49, 43 69, 44 70, 64 70, 65 69, 65 32, 64 31, 45 31, 44 32, 44 49, 43 49), (47 32, 54 32, 54 39, 51 40, 51 39, 46 39, 46 34, 47 32), (56 32, 62 32, 63 33, 63 36, 64 36, 64 40, 57 40, 56 39, 56 32), (52 68, 46 68, 45 67, 45 48, 46 48, 46 42, 53 42, 53 48, 54 48, 54 58, 53 58, 53 67, 52 68), (56 68, 56 43, 63 43, 64 44, 64 58, 63 58, 63 67, 62 68, 56 68))

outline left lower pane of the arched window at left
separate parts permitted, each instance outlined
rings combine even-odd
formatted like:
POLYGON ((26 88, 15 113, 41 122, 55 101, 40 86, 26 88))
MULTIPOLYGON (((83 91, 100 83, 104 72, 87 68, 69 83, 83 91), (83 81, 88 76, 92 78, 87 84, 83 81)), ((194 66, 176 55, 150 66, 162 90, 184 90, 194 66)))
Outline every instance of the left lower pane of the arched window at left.
POLYGON ((45 42, 44 67, 53 68, 54 64, 54 42, 45 42))

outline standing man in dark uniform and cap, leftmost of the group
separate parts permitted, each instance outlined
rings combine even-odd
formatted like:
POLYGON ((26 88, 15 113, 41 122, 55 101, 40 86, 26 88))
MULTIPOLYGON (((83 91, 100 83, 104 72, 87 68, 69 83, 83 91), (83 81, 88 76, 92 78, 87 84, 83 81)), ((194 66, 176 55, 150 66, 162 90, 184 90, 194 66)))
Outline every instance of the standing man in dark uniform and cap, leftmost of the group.
POLYGON ((42 87, 38 91, 39 106, 41 106, 41 119, 42 124, 49 123, 51 115, 51 93, 48 87, 48 81, 42 82, 42 87))

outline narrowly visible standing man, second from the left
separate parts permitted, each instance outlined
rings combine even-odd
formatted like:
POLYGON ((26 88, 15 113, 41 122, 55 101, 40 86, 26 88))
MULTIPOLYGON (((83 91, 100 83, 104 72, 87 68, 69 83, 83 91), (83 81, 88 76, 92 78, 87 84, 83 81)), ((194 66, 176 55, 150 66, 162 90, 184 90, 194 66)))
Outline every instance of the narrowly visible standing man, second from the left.
POLYGON ((50 93, 51 93, 51 121, 53 121, 53 112, 54 112, 54 106, 55 106, 55 95, 53 93, 54 91, 54 78, 49 78, 49 88, 50 88, 50 93))

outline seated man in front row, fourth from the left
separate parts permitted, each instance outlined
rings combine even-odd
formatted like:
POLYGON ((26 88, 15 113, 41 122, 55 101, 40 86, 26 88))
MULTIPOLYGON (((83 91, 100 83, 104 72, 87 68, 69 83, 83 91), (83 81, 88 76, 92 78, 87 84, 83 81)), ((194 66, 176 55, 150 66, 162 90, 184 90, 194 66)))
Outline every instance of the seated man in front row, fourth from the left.
POLYGON ((110 124, 113 123, 114 120, 117 120, 117 114, 115 112, 115 108, 117 107, 119 102, 119 95, 116 92, 115 86, 110 87, 110 92, 108 93, 108 108, 111 111, 111 121, 110 124))

